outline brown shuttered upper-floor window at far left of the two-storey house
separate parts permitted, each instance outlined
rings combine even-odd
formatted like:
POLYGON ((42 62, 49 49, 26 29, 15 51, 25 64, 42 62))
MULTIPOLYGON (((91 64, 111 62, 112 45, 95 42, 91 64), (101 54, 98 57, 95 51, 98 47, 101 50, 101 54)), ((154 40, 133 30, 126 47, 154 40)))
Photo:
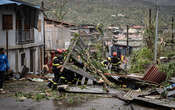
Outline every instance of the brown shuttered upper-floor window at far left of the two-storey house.
POLYGON ((12 15, 3 15, 2 27, 3 27, 3 30, 13 29, 13 16, 12 15))

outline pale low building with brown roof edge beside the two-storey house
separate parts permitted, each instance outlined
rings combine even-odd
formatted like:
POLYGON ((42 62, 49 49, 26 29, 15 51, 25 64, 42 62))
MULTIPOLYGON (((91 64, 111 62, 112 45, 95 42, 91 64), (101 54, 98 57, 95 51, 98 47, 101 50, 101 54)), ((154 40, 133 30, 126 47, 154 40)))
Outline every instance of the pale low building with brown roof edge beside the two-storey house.
POLYGON ((45 18, 46 50, 67 49, 73 38, 73 24, 45 18))

